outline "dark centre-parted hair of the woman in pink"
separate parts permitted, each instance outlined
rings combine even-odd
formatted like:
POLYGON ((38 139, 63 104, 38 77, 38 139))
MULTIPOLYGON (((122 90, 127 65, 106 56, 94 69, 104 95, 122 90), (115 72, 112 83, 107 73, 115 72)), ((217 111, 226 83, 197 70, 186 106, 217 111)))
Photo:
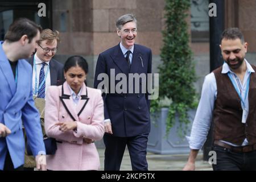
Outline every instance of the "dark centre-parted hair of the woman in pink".
POLYGON ((69 68, 79 66, 88 73, 88 63, 82 56, 71 56, 68 57, 67 61, 64 64, 64 72, 67 72, 69 68))

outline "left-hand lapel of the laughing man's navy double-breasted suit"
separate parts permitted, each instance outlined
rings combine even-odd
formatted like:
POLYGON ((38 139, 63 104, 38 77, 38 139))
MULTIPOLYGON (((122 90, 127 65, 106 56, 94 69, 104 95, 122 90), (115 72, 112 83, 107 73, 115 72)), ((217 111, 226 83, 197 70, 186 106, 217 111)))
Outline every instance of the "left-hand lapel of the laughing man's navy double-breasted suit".
POLYGON ((112 57, 117 67, 121 69, 121 71, 125 73, 125 75, 128 75, 129 67, 128 67, 128 64, 126 63, 125 56, 123 56, 123 53, 119 44, 115 46, 114 53, 113 55, 110 55, 110 56, 112 57))

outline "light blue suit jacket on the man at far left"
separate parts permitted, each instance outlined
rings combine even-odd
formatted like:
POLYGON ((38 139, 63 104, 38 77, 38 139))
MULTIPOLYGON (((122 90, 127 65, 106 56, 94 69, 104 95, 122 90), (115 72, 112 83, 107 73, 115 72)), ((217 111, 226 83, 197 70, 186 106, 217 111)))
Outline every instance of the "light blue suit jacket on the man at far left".
POLYGON ((24 59, 18 61, 17 67, 16 85, 13 71, 0 42, 0 122, 11 130, 7 137, 0 137, 0 169, 3 169, 5 164, 7 149, 14 168, 24 164, 22 122, 33 155, 45 151, 39 113, 32 97, 32 68, 24 59))

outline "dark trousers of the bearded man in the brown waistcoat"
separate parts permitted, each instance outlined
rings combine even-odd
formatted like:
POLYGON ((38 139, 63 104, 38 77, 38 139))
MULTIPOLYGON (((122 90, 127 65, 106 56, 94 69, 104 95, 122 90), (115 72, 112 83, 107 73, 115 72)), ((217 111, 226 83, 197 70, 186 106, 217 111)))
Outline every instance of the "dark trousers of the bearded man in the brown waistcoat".
POLYGON ((214 171, 254 171, 256 170, 256 151, 233 152, 228 148, 214 146, 216 151, 216 164, 213 164, 214 171))

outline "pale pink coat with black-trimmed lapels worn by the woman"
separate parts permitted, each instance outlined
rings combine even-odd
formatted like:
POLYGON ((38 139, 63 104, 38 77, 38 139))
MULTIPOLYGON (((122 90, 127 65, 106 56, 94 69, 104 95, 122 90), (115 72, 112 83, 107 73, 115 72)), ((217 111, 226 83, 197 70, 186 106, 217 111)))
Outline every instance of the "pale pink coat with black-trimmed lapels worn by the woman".
MULTIPOLYGON (((48 137, 56 138, 57 151, 55 155, 47 155, 47 169, 50 170, 98 170, 100 158, 94 143, 87 144, 82 139, 90 138, 100 140, 104 135, 104 104, 101 91, 82 86, 82 95, 87 95, 85 100, 80 100, 73 106, 72 97, 63 99, 70 113, 77 122, 77 131, 63 133, 56 126, 56 122, 73 121, 64 105, 60 101, 62 86, 49 86, 46 93, 45 129, 48 137), (87 89, 87 93, 86 93, 87 89), (89 98, 89 100, 88 100, 89 98), (85 105, 85 103, 87 104, 85 105), (85 105, 84 109, 83 106, 85 105), (82 110, 82 111, 81 111, 82 110), (79 117, 78 113, 81 114, 79 117)), ((63 85, 64 94, 70 96, 71 92, 67 82, 63 85)))

